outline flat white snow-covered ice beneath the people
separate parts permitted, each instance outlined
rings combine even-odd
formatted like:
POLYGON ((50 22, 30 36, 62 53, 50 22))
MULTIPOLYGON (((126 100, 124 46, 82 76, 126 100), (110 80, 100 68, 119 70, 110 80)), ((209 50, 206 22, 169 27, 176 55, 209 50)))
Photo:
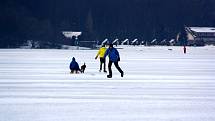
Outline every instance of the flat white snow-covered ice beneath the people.
POLYGON ((215 47, 118 48, 112 79, 97 50, 0 49, 0 121, 215 120, 215 47))

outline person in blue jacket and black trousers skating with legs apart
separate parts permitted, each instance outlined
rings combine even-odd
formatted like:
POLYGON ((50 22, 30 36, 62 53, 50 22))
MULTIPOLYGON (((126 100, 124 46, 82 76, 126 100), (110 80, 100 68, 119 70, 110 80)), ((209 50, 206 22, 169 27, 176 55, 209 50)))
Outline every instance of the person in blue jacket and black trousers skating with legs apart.
POLYGON ((109 56, 109 63, 108 63, 109 75, 107 75, 107 78, 112 78, 112 69, 111 69, 112 63, 114 63, 117 70, 121 73, 121 77, 123 77, 124 72, 122 71, 122 69, 119 67, 119 64, 118 64, 118 62, 120 61, 119 52, 117 51, 116 48, 113 47, 113 44, 110 44, 109 48, 106 50, 104 58, 106 58, 106 56, 109 56))

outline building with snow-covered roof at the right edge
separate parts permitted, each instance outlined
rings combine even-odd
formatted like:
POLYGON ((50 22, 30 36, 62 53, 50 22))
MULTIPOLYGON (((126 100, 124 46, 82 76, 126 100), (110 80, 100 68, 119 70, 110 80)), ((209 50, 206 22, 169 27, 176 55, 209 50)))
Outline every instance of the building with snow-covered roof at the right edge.
POLYGON ((215 45, 214 27, 186 27, 188 45, 215 45))

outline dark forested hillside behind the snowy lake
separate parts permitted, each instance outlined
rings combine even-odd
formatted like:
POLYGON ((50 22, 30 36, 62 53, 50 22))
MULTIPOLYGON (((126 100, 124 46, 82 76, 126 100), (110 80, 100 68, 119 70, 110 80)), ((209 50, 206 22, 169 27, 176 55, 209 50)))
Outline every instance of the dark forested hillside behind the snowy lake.
POLYGON ((81 40, 175 38, 184 26, 215 26, 214 0, 1 0, 0 47, 27 40, 73 44, 81 40))

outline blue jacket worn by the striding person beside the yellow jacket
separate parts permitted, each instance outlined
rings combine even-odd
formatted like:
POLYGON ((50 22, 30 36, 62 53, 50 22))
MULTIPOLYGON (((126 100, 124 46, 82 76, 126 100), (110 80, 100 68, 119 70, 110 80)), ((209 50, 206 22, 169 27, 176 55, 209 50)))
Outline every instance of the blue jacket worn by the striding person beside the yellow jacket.
POLYGON ((104 57, 106 57, 107 55, 109 56, 110 61, 117 62, 120 60, 119 52, 116 48, 108 48, 105 52, 104 57))

